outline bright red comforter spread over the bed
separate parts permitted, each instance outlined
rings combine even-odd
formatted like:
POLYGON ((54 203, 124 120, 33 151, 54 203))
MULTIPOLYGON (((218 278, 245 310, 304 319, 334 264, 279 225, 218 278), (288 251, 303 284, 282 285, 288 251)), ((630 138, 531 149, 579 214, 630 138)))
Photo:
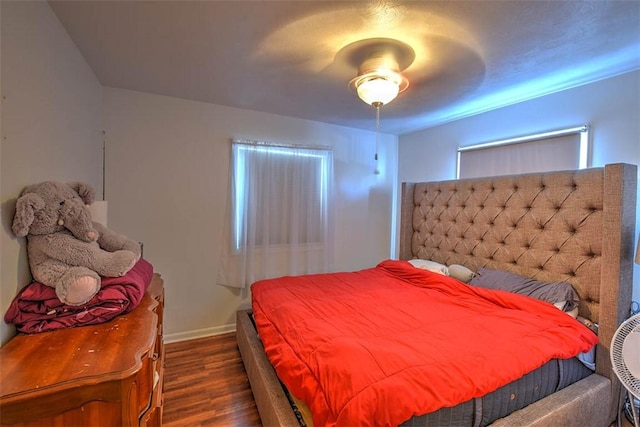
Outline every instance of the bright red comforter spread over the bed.
POLYGON ((597 342, 551 304, 405 261, 251 290, 267 356, 316 426, 398 425, 597 342))

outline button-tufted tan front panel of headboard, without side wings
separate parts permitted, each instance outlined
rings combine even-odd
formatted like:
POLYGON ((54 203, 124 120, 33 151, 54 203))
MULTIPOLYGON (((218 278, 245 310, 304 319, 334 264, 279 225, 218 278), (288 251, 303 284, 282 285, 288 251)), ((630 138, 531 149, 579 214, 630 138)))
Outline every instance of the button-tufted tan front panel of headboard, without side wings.
POLYGON ((602 184, 602 169, 416 183, 411 257, 568 280, 597 321, 602 184))

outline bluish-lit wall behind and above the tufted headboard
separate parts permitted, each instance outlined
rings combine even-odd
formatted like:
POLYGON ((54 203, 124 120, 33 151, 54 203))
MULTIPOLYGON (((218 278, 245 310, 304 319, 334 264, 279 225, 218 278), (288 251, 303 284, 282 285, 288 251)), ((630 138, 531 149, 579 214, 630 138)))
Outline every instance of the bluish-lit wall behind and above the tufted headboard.
MULTIPOLYGON (((398 182, 455 178, 458 146, 582 124, 591 125, 591 166, 640 165, 640 71, 403 135, 398 144, 398 182)), ((633 298, 640 301, 638 265, 633 298)))

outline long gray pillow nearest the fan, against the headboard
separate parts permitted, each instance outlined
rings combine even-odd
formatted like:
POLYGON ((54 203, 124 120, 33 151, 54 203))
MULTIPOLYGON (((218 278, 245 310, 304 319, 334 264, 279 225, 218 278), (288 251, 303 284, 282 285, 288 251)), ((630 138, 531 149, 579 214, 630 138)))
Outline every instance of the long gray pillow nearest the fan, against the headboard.
POLYGON ((571 283, 541 282, 507 271, 491 270, 484 267, 478 269, 477 275, 471 279, 469 284, 526 295, 551 304, 564 301, 562 310, 565 312, 575 312, 580 303, 580 298, 571 283))

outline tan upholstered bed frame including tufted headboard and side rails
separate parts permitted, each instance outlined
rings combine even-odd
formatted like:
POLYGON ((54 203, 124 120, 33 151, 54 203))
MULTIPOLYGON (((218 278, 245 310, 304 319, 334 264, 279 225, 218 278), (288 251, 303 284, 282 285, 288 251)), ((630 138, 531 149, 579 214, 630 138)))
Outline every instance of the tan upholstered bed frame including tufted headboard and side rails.
MULTIPOLYGON (((608 426, 616 419, 620 384, 608 347, 631 303, 636 188, 636 166, 628 164, 403 184, 401 260, 566 281, 580 297, 579 315, 599 326, 594 373, 491 425, 608 426)), ((300 425, 251 310, 237 313, 237 339, 263 425, 300 425)), ((408 425, 440 424, 414 421, 408 425)))

